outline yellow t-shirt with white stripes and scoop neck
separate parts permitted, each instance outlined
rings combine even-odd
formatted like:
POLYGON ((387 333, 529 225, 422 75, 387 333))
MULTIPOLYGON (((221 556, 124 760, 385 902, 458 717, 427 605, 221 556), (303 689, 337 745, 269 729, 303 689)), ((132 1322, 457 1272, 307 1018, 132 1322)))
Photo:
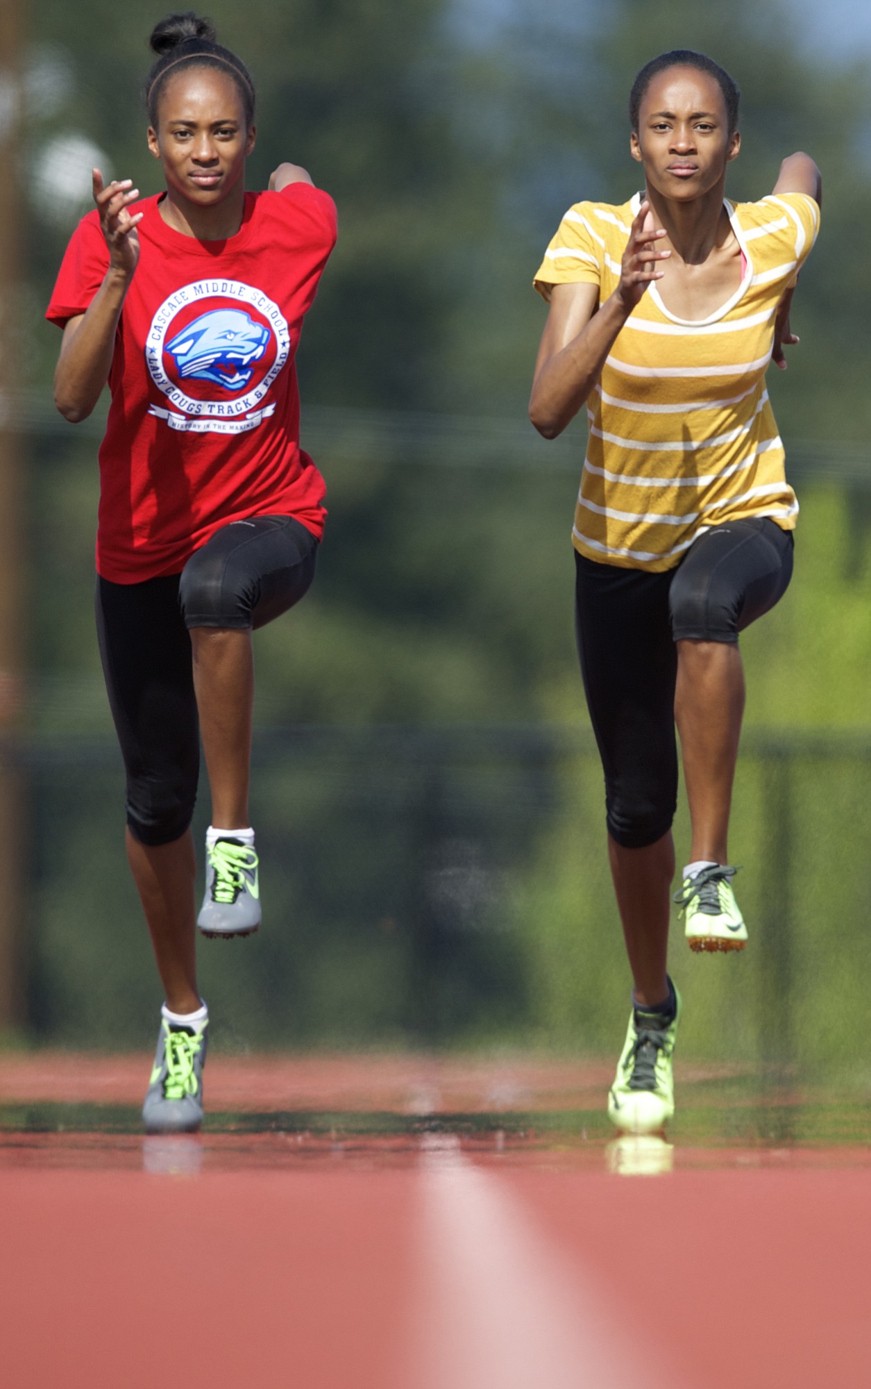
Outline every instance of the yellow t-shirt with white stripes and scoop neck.
MULTIPOLYGON (((587 281, 599 303, 617 288, 639 194, 577 203, 545 251, 535 288, 587 281)), ((669 569, 712 525, 771 517, 795 526, 799 504, 766 390, 774 319, 809 254, 820 210, 804 193, 727 200, 743 278, 710 318, 691 322, 650 285, 621 328, 587 401, 587 457, 574 514, 581 554, 669 569)))

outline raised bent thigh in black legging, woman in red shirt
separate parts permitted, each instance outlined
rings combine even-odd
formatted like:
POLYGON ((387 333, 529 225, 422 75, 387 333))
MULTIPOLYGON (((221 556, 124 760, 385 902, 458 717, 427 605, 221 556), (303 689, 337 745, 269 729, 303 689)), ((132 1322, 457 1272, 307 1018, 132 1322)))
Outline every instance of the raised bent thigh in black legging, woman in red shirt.
POLYGON ((250 629, 287 613, 311 588, 318 540, 294 517, 221 528, 182 574, 184 625, 250 629))

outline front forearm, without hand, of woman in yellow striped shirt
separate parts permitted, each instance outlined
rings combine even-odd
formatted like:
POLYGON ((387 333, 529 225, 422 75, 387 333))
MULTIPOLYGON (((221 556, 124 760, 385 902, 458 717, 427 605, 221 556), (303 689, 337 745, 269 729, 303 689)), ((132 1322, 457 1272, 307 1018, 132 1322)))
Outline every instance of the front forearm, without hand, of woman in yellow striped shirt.
POLYGON ((545 439, 560 435, 589 399, 630 311, 613 293, 577 338, 546 358, 537 371, 530 419, 545 439))

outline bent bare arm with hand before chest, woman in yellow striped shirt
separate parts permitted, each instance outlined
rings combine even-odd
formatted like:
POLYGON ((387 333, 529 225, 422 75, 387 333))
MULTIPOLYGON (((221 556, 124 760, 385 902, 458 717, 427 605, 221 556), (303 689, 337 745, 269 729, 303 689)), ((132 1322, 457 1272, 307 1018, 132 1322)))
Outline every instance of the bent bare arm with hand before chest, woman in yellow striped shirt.
POLYGON ((620 283, 601 308, 598 285, 553 286, 530 397, 530 419, 545 439, 556 439, 574 419, 635 304, 650 281, 662 279, 657 264, 671 253, 655 246, 664 235, 653 226, 649 204, 642 203, 623 256, 620 283))

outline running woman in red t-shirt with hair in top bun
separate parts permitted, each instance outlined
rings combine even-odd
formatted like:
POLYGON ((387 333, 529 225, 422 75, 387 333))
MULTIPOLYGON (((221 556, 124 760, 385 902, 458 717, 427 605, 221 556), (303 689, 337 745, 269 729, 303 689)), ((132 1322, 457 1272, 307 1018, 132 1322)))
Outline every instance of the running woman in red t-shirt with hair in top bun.
POLYGON ((97 631, 126 768, 128 858, 166 1000, 143 1118, 202 1120, 208 1011, 196 925, 261 920, 248 817, 251 631, 312 582, 325 485, 300 449, 294 354, 336 242, 336 208, 282 164, 245 193, 254 85, 207 19, 151 35, 148 147, 166 190, 103 185, 76 228, 47 317, 64 329, 55 401, 87 418, 108 381, 100 447, 97 631), (212 825, 197 917, 200 733, 212 825))

